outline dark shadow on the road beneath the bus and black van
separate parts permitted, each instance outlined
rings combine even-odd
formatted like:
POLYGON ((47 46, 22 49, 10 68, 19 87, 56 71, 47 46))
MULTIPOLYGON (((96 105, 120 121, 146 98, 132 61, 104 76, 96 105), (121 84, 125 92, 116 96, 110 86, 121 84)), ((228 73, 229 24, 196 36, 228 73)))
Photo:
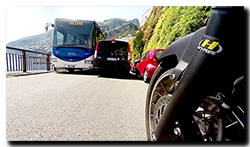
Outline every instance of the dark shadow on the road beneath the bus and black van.
POLYGON ((122 79, 122 80, 142 80, 141 77, 137 75, 132 75, 130 73, 124 74, 116 70, 75 70, 74 72, 69 72, 68 70, 58 70, 56 74, 68 74, 68 75, 90 75, 97 76, 98 78, 112 78, 112 79, 122 79))

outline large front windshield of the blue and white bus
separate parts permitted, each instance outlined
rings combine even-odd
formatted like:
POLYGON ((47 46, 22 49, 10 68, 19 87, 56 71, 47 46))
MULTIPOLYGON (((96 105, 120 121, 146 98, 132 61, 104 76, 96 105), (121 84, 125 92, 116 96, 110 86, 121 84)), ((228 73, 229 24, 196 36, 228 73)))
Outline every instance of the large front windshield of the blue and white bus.
POLYGON ((54 47, 93 48, 93 22, 90 21, 55 21, 54 47))

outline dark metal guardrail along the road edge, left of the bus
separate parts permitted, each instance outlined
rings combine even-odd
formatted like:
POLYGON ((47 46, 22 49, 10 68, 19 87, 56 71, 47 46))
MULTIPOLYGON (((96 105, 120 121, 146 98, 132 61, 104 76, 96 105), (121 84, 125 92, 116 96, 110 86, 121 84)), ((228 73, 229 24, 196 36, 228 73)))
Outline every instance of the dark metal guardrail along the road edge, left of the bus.
POLYGON ((6 46, 5 71, 6 72, 27 72, 34 70, 53 69, 50 63, 49 53, 29 51, 6 46), (7 53, 8 49, 8 53, 7 53), (10 50, 10 51, 9 51, 10 50))

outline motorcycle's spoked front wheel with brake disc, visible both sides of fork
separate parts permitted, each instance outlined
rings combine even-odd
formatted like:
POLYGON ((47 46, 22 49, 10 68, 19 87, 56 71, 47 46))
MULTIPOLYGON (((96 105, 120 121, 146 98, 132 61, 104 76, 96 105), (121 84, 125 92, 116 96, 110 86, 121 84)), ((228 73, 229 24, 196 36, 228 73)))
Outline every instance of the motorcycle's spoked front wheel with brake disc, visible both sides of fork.
MULTIPOLYGON (((175 89, 178 87, 179 82, 177 81, 174 83, 171 80, 171 73, 173 70, 173 68, 164 69, 161 64, 159 64, 149 83, 145 110, 147 139, 149 141, 157 140, 155 129, 163 116, 164 110, 171 101, 175 89)), ((167 140, 183 141, 196 140, 198 138, 204 141, 218 140, 216 137, 220 130, 219 128, 221 128, 218 123, 220 107, 218 107, 215 100, 216 97, 213 96, 205 98, 204 102, 200 104, 200 106, 197 106, 197 110, 193 114, 190 114, 190 119, 184 122, 190 124, 185 125, 190 126, 191 129, 188 129, 189 132, 183 131, 183 126, 178 124, 177 126, 179 127, 172 129, 173 131, 169 134, 167 140), (193 134, 196 134, 196 136, 193 134), (192 136, 194 136, 194 138, 192 138, 192 136)), ((225 133, 225 140, 235 140, 235 138, 236 140, 240 140, 242 137, 239 137, 240 139, 237 137, 240 136, 241 133, 232 136, 232 134, 238 134, 235 130, 239 130, 240 128, 237 119, 231 115, 227 115, 225 122, 225 132, 227 132, 225 133), (235 124, 238 124, 238 126, 235 124)))

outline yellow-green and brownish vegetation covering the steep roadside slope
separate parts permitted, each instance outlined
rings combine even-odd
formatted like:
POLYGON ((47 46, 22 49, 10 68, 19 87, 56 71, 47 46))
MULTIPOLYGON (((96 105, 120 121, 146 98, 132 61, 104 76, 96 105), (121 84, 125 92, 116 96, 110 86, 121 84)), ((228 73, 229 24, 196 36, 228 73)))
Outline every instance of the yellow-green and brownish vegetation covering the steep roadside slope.
MULTIPOLYGON (((145 43, 143 53, 151 49, 165 49, 181 37, 204 27, 210 13, 209 6, 154 6, 148 21, 141 27, 145 43)), ((136 50, 133 41, 129 43, 132 50, 136 50)), ((133 58, 139 59, 140 56, 134 54, 133 58)))

